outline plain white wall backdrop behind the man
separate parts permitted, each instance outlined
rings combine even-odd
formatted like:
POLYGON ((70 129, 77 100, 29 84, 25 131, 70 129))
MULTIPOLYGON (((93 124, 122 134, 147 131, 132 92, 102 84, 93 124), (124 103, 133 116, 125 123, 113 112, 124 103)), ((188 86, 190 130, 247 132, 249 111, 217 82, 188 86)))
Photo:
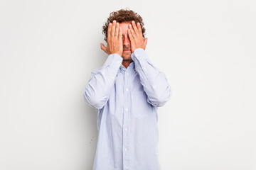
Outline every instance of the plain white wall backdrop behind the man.
POLYGON ((248 0, 1 0, 0 169, 92 169, 97 113, 82 93, 107 58, 102 26, 121 8, 144 19, 146 53, 172 89, 159 108, 161 169, 256 169, 248 0))

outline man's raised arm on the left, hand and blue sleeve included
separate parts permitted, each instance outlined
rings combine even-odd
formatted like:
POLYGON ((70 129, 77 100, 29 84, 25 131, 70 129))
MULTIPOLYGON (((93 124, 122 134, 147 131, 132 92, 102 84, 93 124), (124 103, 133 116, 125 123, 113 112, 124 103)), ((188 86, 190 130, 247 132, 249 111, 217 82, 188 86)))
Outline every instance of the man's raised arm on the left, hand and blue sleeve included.
POLYGON ((113 24, 107 28, 107 47, 102 43, 101 49, 109 56, 100 69, 92 72, 89 83, 85 87, 85 101, 94 108, 102 108, 110 98, 111 89, 114 86, 114 80, 117 77, 119 67, 122 64, 122 28, 119 23, 113 21, 113 24))

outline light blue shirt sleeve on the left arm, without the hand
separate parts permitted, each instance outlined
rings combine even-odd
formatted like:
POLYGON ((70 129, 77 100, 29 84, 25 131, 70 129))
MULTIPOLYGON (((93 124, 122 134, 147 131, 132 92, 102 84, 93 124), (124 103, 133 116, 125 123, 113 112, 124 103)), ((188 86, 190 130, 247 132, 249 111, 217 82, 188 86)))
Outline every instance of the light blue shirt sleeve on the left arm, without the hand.
POLYGON ((102 67, 91 72, 83 94, 85 101, 93 108, 100 109, 107 103, 122 60, 120 55, 111 54, 102 67))

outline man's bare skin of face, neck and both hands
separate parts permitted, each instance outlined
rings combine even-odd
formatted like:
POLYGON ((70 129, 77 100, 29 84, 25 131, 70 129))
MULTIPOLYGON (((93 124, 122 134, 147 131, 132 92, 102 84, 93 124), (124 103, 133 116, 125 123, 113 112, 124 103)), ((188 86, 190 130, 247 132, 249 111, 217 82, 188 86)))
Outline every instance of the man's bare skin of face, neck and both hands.
POLYGON ((100 43, 101 49, 108 55, 116 53, 123 58, 122 65, 127 68, 132 61, 131 55, 137 48, 146 50, 148 38, 143 38, 140 23, 113 21, 107 29, 107 47, 100 43), (128 51, 127 51, 128 50, 128 51))

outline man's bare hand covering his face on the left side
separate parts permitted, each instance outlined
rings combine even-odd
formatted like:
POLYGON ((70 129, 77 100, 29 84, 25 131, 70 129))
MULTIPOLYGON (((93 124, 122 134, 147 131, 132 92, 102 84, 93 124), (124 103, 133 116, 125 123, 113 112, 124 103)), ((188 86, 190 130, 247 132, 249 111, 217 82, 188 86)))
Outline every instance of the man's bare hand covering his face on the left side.
POLYGON ((118 55, 122 56, 122 28, 119 28, 119 23, 117 23, 117 21, 114 20, 113 24, 110 23, 107 28, 107 47, 105 47, 102 43, 100 43, 100 47, 108 55, 117 53, 118 55))

